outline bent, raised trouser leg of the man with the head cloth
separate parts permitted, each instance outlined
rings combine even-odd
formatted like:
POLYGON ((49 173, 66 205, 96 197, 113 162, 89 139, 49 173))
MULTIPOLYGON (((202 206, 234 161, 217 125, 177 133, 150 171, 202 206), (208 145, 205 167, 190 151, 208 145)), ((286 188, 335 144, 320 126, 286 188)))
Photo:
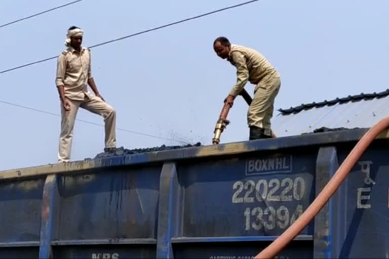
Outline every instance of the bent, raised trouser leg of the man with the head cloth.
POLYGON ((99 97, 92 96, 80 105, 82 108, 101 115, 105 122, 105 148, 116 147, 116 111, 99 97))

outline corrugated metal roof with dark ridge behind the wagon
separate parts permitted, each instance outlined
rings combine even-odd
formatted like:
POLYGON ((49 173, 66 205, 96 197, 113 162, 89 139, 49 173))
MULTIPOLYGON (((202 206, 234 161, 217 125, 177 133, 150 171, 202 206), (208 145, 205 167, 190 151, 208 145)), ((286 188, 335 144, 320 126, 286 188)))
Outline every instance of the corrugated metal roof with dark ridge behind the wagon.
POLYGON ((389 89, 280 109, 271 120, 277 137, 314 132, 317 128, 367 128, 389 115, 389 89))

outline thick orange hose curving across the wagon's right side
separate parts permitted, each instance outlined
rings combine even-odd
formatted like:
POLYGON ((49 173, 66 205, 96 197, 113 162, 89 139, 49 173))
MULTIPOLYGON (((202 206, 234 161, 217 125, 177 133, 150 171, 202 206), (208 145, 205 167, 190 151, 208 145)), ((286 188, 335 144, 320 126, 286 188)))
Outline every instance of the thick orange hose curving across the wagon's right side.
POLYGON ((295 238, 309 224, 310 221, 312 221, 312 219, 328 202, 370 143, 388 126, 389 117, 383 118, 377 124, 372 126, 361 138, 361 140, 358 141, 357 145, 348 154, 346 159, 344 159, 343 163, 339 166, 331 180, 323 188, 312 204, 310 204, 304 211, 304 213, 302 213, 301 216, 284 233, 282 233, 282 235, 258 253, 254 258, 273 258, 281 251, 281 249, 292 241, 292 239, 295 238))

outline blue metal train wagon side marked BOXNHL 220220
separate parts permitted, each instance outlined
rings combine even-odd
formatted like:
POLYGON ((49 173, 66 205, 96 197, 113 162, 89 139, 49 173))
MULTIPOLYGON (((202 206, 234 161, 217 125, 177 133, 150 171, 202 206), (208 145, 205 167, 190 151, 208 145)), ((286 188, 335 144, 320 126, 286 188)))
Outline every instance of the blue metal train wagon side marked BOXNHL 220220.
MULTIPOLYGON (((2 258, 252 258, 307 208, 366 130, 0 172, 2 258)), ((382 258, 382 134, 277 258, 382 258)))

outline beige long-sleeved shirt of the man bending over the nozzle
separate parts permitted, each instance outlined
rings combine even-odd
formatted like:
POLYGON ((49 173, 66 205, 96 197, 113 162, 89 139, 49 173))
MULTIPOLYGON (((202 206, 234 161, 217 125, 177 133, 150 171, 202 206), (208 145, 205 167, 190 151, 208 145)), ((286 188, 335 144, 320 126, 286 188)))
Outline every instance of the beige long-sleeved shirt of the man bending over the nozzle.
POLYGON ((254 49, 231 44, 228 61, 237 68, 237 83, 232 87, 230 95, 237 96, 247 81, 257 84, 265 76, 280 77, 278 71, 266 58, 254 49))

